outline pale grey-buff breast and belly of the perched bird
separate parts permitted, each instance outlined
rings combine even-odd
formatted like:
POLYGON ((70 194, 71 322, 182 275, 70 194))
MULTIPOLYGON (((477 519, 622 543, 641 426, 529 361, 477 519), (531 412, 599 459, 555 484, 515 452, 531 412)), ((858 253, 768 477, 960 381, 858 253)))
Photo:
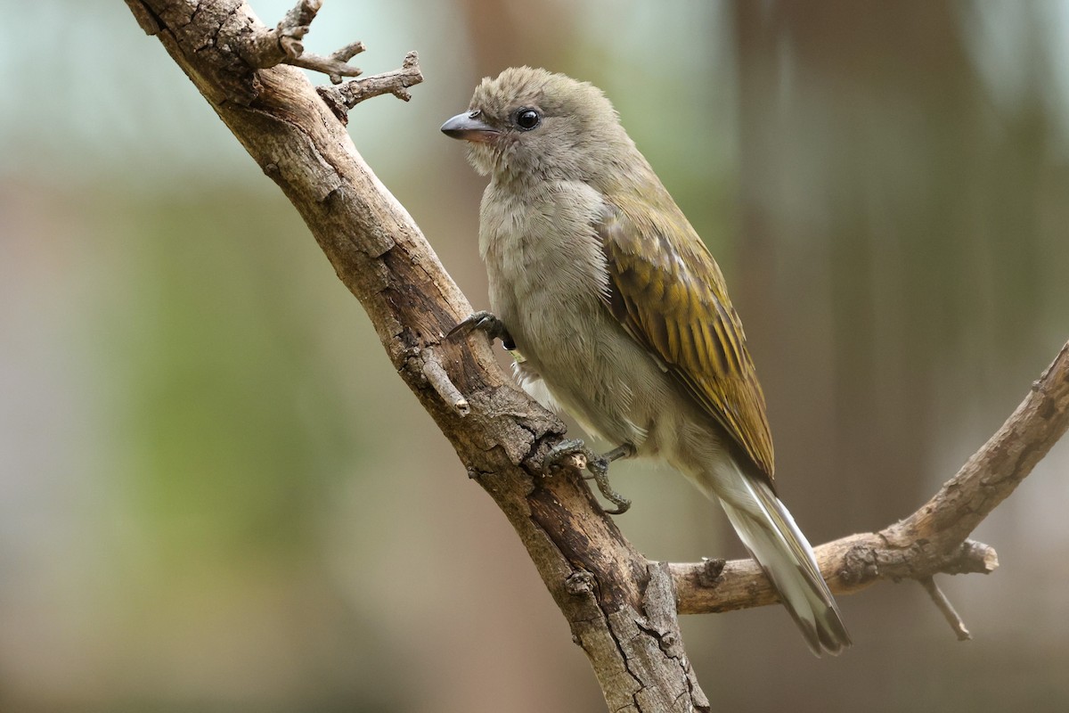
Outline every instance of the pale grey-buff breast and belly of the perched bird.
POLYGON ((586 430, 637 447, 670 389, 607 307, 608 270, 593 229, 602 208, 601 196, 586 184, 551 184, 518 196, 491 183, 480 252, 491 309, 525 359, 532 396, 541 378, 586 430))

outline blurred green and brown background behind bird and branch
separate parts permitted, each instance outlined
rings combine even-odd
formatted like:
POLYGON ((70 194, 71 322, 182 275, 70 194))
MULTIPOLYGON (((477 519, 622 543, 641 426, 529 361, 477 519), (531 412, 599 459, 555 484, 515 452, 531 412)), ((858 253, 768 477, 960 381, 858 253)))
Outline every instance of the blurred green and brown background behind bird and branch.
MULTIPOLYGON (((253 0, 274 24, 291 0, 253 0)), ((505 518, 274 184, 120 0, 0 0, 0 710, 602 711, 505 518)), ((477 308, 482 182, 438 133, 514 64, 599 84, 727 274, 814 542, 912 512, 1069 338, 1069 2, 328 0, 306 45, 410 104, 356 145, 477 308)), ((316 78, 316 81, 324 81, 316 78)), ((719 710, 1069 709, 1069 445, 1002 567, 684 619, 719 710)), ((616 468, 647 555, 740 556, 616 468)))

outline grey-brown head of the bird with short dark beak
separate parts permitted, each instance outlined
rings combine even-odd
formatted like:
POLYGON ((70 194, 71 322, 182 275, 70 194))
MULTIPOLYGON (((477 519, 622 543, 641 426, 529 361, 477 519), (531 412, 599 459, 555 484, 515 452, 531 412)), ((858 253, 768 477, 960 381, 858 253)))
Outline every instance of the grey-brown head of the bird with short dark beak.
POLYGON ((600 89, 526 66, 484 78, 468 110, 441 131, 467 141, 476 171, 501 183, 593 183, 621 154, 634 151, 600 89))

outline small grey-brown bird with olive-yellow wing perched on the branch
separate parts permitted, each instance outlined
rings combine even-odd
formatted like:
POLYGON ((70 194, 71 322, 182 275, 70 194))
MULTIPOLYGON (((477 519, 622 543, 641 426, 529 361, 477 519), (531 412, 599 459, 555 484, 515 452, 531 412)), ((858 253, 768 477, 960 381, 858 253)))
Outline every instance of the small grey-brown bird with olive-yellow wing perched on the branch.
POLYGON ((524 387, 618 445, 609 460, 663 459, 718 500, 814 653, 850 646, 776 497, 764 396, 724 276, 609 100, 510 68, 441 130, 490 176, 479 251, 492 313, 459 326, 516 348, 524 387))

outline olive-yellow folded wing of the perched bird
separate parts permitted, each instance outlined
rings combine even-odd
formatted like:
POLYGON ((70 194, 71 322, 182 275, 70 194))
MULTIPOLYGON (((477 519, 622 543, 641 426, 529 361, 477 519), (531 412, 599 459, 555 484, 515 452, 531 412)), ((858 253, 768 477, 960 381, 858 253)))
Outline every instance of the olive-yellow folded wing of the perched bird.
POLYGON ((764 394, 724 276, 667 192, 651 192, 606 203, 594 226, 608 307, 773 485, 764 394))

